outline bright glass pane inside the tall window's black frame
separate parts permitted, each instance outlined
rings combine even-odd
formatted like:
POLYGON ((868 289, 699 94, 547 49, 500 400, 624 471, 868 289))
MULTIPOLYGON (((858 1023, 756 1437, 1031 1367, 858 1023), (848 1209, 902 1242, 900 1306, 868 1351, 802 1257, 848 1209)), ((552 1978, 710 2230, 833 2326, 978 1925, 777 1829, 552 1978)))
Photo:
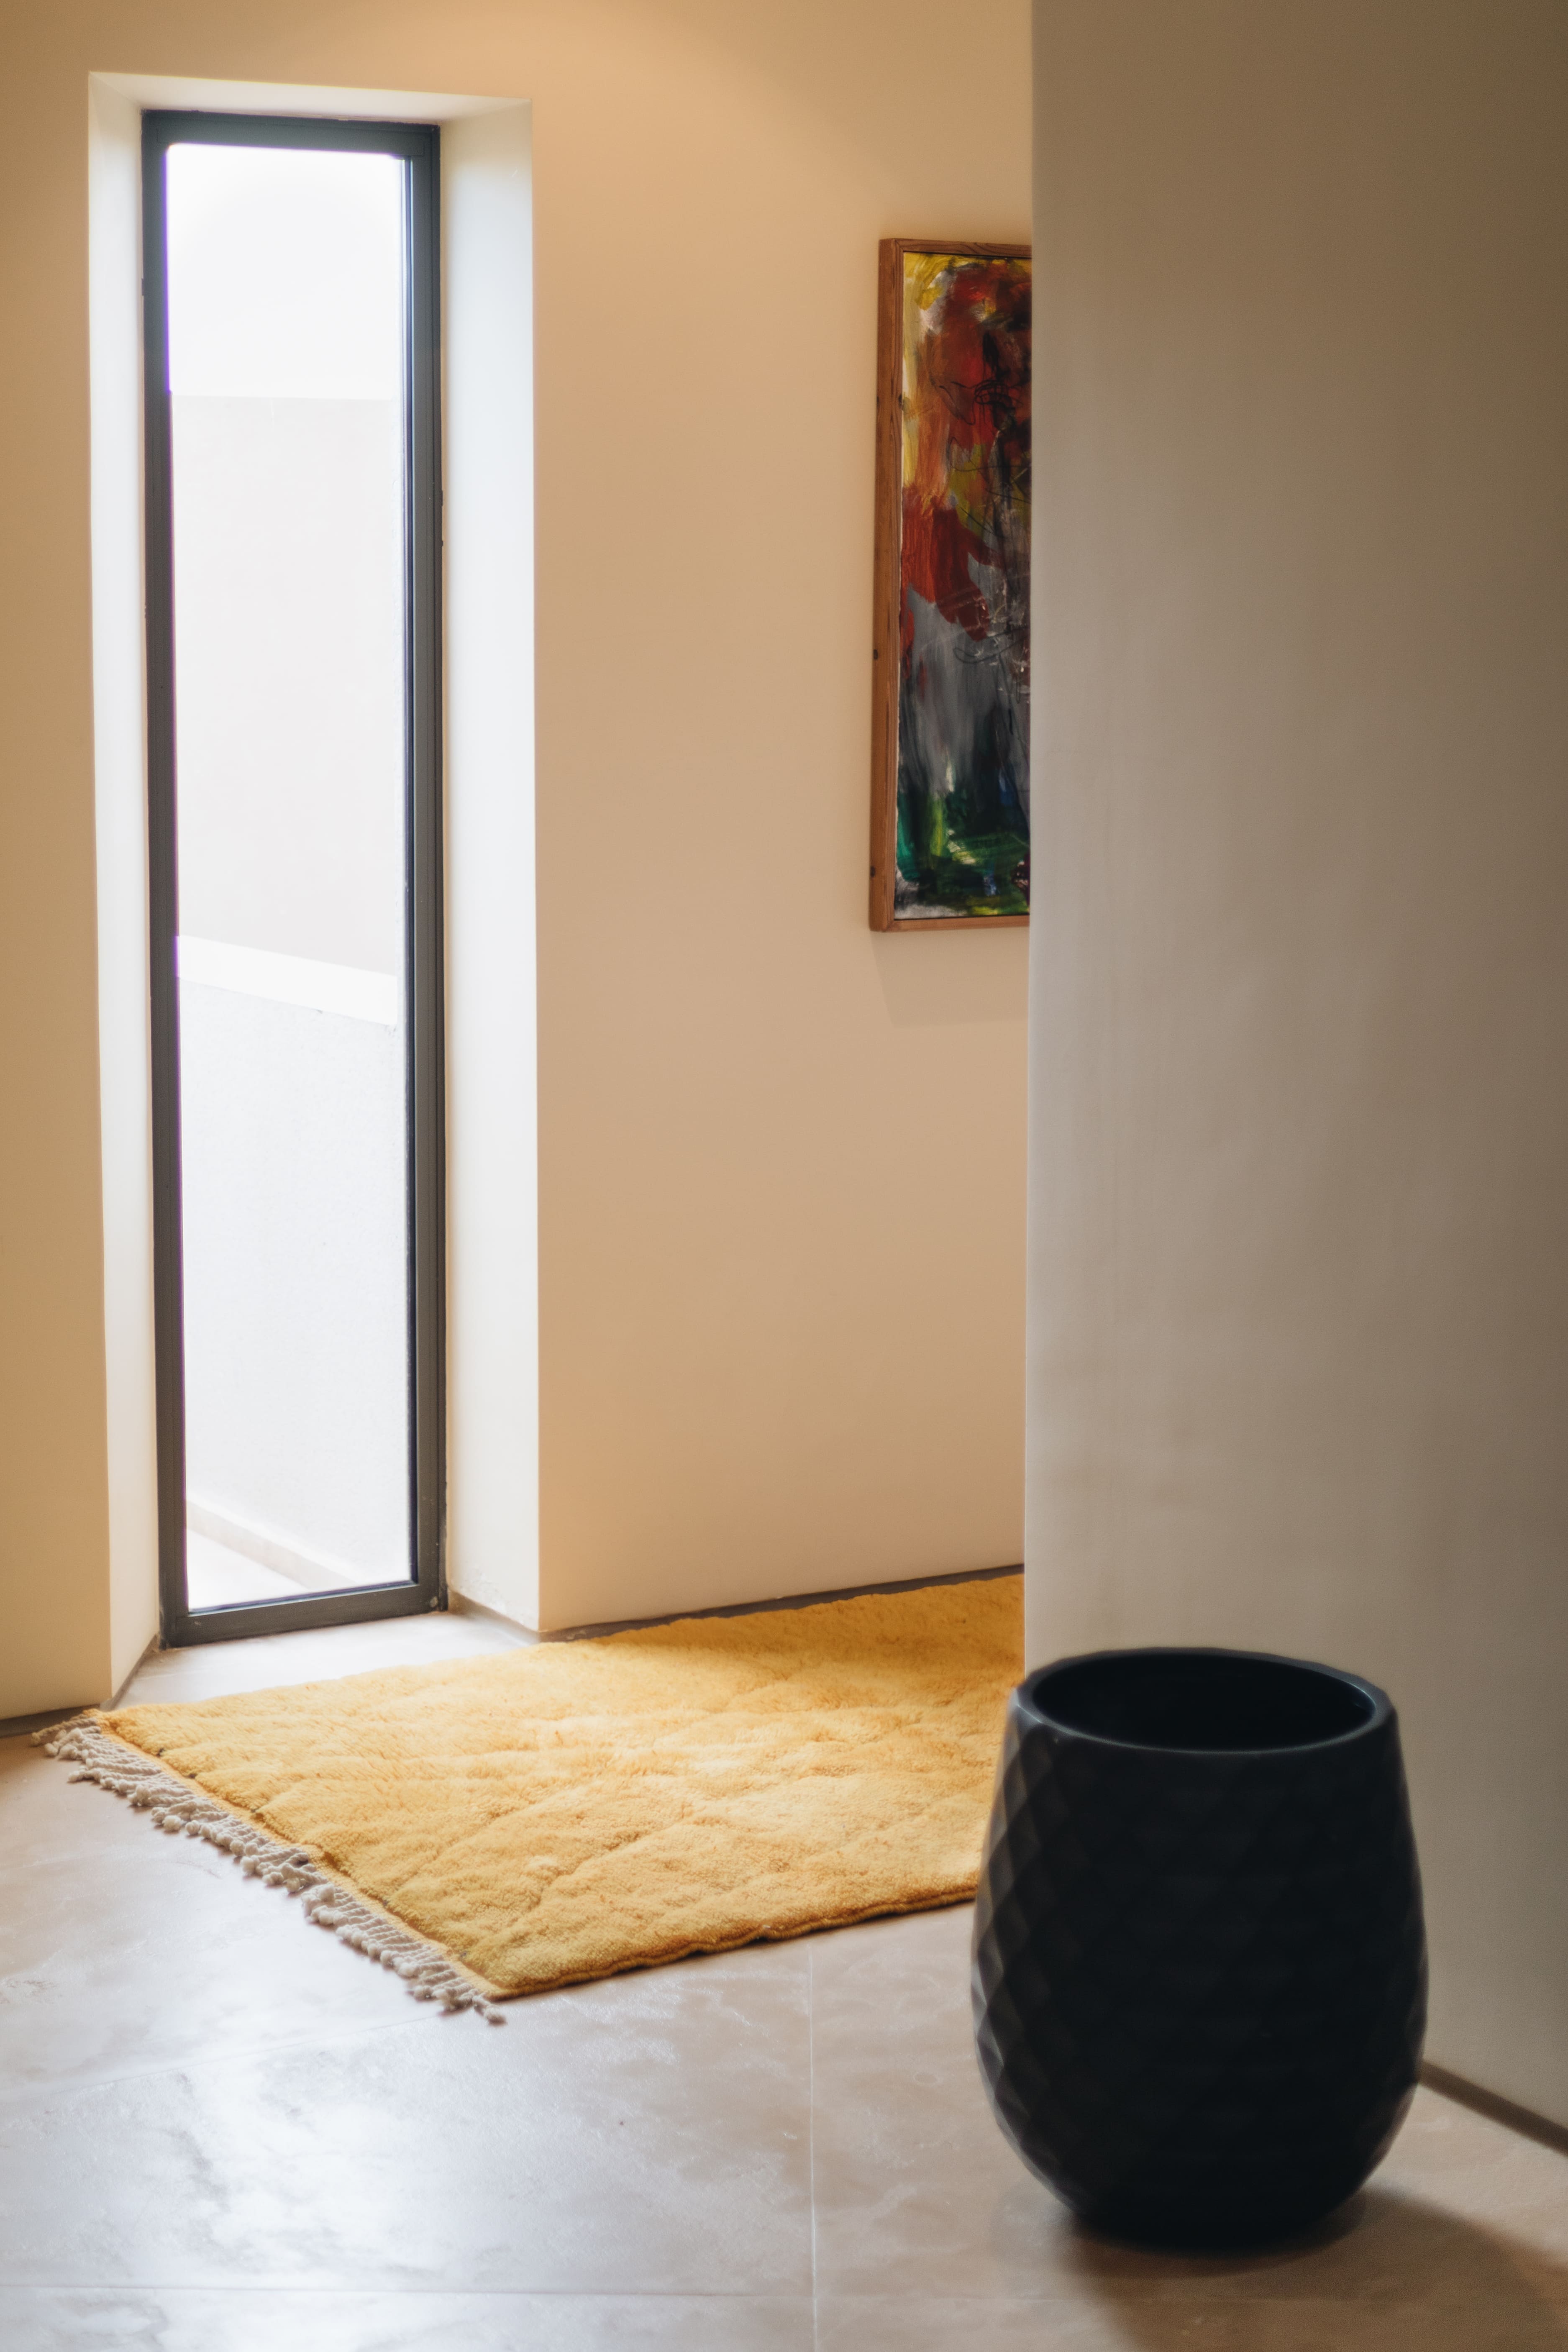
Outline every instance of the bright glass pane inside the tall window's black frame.
POLYGON ((167 158, 197 1609, 411 1573, 404 169, 167 158))

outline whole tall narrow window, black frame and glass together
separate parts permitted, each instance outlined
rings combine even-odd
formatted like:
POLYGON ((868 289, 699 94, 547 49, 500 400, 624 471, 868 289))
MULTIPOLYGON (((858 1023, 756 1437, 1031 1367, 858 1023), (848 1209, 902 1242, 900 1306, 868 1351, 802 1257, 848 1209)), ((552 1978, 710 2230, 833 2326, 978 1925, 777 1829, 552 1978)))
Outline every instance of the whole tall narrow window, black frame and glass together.
POLYGON ((165 1639, 442 1595, 437 132, 143 127, 165 1639))

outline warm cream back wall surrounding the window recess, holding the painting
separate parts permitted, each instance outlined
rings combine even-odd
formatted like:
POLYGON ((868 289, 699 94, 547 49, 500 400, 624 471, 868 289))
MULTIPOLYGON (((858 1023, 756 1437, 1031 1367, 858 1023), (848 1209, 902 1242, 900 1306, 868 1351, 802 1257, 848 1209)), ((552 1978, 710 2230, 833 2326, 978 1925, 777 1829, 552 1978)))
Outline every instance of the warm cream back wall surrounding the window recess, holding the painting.
POLYGON ((89 73, 534 101, 543 1621, 1018 1557, 1025 941, 863 901, 875 245, 1027 233, 1020 0, 959 111, 936 0, 12 31, 0 1715, 108 1679, 89 73))

